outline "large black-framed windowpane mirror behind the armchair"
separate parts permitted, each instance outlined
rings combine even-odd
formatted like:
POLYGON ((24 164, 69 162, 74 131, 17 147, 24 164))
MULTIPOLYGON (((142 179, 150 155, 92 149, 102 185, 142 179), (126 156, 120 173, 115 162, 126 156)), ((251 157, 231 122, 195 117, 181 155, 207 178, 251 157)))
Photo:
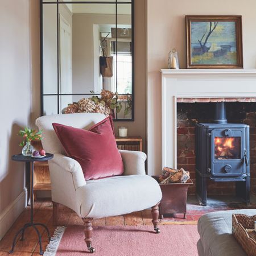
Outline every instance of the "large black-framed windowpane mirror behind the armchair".
POLYGON ((133 0, 41 0, 40 36, 41 115, 107 90, 114 120, 134 121, 133 0))

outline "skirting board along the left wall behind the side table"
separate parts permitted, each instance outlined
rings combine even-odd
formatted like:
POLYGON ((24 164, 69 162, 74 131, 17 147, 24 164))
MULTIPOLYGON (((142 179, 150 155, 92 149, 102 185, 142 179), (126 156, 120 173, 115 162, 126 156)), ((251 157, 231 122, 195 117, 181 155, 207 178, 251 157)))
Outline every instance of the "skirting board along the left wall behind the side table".
POLYGON ((27 207, 27 188, 24 188, 19 196, 9 204, 0 214, 0 240, 5 236, 6 232, 11 228, 16 218, 27 207))

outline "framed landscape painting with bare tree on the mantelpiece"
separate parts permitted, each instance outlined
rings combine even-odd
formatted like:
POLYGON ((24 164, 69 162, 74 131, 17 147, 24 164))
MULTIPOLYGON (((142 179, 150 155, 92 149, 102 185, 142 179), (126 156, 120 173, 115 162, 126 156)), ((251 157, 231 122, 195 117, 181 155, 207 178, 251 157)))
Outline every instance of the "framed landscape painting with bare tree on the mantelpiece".
POLYGON ((242 16, 186 16, 187 68, 243 68, 242 16))

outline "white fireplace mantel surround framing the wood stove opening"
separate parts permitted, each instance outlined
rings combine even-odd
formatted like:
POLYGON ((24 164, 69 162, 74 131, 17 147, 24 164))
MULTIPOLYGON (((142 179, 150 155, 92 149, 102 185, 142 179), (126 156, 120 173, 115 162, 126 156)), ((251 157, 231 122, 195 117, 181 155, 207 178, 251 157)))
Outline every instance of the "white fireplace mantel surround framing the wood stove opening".
POLYGON ((256 69, 162 69, 162 166, 177 167, 177 98, 256 98, 256 69))

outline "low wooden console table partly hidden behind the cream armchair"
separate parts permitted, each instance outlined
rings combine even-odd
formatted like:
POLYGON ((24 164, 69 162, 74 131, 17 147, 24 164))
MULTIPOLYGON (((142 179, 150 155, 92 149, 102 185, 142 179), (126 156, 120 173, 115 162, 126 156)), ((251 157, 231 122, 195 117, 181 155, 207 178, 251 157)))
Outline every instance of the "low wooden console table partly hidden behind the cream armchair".
MULTIPOLYGON (((140 136, 116 137, 115 141, 119 150, 142 151, 140 136)), ((31 144, 36 150, 43 149, 41 141, 32 141, 31 144)), ((34 162, 34 200, 36 200, 37 191, 51 191, 48 162, 34 162)))

